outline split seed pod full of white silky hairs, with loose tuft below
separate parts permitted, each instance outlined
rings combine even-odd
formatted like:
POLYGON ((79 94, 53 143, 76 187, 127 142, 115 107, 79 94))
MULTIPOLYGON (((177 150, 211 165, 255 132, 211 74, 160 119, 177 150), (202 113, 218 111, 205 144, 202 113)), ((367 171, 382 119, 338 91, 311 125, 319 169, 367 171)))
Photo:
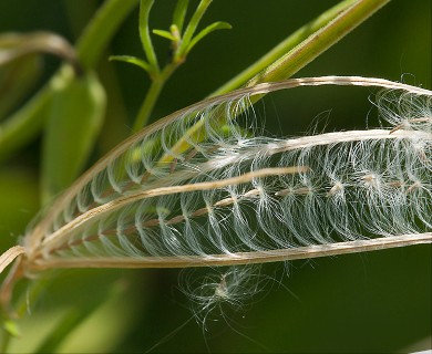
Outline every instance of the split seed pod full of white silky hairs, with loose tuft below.
MULTIPOLYGON (((22 240, 29 268, 101 259, 199 266, 220 256, 431 232, 432 93, 322 79, 394 86, 376 102, 387 126, 263 136, 255 94, 316 82, 267 84, 202 103, 126 140, 32 223, 22 240)), ((254 283, 247 268, 208 277, 188 291, 204 312, 257 291, 245 288, 254 283)))

